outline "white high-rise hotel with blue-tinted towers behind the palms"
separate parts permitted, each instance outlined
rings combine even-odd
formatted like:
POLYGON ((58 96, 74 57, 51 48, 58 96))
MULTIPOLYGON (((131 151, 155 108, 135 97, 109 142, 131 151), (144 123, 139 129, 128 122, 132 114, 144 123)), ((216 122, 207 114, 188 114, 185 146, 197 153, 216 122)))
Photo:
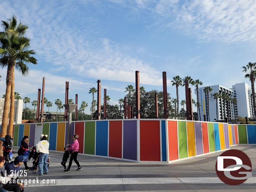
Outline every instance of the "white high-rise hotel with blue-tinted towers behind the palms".
MULTIPOLYGON (((204 120, 204 115, 206 115, 207 121, 216 121, 216 100, 213 97, 214 93, 228 93, 229 96, 232 98, 235 97, 238 103, 235 105, 235 112, 233 109, 233 104, 229 101, 226 101, 226 106, 224 107, 224 100, 218 99, 217 104, 217 112, 218 112, 218 120, 225 120, 228 115, 228 106, 229 106, 229 117, 234 119, 235 116, 241 117, 253 117, 253 110, 252 110, 252 97, 251 97, 251 89, 247 83, 236 83, 232 86, 232 88, 225 88, 220 85, 210 86, 212 91, 209 93, 209 117, 208 117, 208 108, 207 108, 207 96, 204 93, 205 87, 199 88, 199 103, 200 106, 200 115, 201 120, 204 120), (224 109, 226 112, 224 113, 224 109), (235 113, 235 114, 234 114, 235 113)), ((196 90, 195 90, 196 93, 196 90)))

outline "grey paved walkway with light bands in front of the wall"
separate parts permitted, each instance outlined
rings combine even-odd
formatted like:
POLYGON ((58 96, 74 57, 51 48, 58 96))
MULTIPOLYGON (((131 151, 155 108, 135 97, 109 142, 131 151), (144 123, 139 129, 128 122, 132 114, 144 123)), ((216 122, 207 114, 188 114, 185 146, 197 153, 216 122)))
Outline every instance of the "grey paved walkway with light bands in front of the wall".
MULTIPOLYGON (((25 191, 256 192, 256 145, 236 145, 231 148, 245 152, 253 166, 253 178, 238 186, 224 184, 217 177, 215 163, 222 152, 169 164, 133 163, 78 155, 83 169, 75 171, 77 167, 73 162, 71 171, 66 173, 60 165, 63 153, 51 152, 49 174, 38 176, 38 179, 39 182, 42 179, 55 179, 55 184, 29 184, 25 191)), ((31 166, 31 162, 28 165, 31 166)), ((24 166, 21 168, 24 169, 24 166)), ((20 179, 37 179, 37 176, 29 171, 26 177, 20 179)))

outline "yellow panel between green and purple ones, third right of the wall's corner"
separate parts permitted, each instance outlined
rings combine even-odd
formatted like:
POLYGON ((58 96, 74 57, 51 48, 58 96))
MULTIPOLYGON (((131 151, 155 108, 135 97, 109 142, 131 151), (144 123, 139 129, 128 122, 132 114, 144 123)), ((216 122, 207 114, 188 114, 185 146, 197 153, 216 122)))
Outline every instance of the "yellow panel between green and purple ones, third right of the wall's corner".
POLYGON ((188 132, 188 156, 191 157, 196 155, 194 122, 187 122, 187 132, 188 132))

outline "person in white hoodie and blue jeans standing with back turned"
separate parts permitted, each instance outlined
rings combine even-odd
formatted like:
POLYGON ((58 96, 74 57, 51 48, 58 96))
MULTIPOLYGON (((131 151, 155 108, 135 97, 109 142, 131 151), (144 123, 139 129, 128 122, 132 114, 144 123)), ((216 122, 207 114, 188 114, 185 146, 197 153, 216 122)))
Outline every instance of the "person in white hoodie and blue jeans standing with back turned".
POLYGON ((42 134, 41 141, 39 141, 36 145, 37 153, 40 153, 37 175, 43 175, 48 173, 47 158, 49 154, 49 143, 46 139, 47 137, 48 135, 42 134))

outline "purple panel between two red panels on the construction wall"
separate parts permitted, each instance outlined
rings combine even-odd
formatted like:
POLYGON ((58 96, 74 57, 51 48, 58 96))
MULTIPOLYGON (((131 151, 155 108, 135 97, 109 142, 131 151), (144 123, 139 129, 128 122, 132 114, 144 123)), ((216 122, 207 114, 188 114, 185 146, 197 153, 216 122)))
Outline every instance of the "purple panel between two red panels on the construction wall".
POLYGON ((137 161, 137 121, 123 121, 123 158, 137 161))

